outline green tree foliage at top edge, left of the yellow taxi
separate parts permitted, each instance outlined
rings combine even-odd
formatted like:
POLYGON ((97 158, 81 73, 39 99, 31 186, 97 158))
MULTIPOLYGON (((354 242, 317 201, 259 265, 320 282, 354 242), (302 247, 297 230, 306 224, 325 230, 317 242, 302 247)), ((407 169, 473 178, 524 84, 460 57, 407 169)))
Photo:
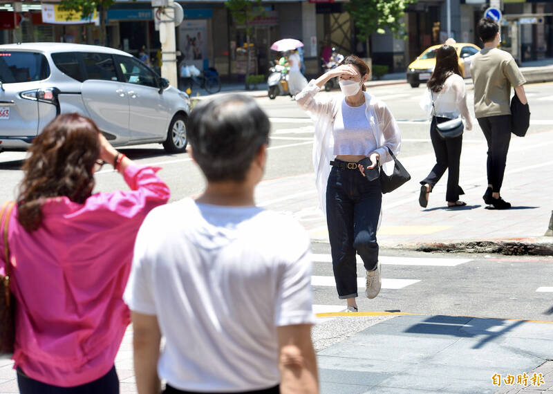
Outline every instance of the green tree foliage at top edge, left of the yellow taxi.
POLYGON ((395 38, 405 39, 405 24, 400 19, 414 3, 416 0, 350 0, 346 7, 358 30, 357 38, 366 41, 368 49, 371 34, 384 34, 386 28, 395 38))

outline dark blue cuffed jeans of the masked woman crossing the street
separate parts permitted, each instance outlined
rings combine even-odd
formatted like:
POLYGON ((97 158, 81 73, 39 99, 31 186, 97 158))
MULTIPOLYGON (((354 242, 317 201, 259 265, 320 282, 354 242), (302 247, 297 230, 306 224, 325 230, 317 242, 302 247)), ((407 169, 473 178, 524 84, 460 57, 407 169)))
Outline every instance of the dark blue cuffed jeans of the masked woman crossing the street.
POLYGON ((366 270, 377 266, 381 207, 379 178, 369 182, 359 169, 332 167, 326 187, 326 223, 339 299, 357 297, 356 252, 366 270))

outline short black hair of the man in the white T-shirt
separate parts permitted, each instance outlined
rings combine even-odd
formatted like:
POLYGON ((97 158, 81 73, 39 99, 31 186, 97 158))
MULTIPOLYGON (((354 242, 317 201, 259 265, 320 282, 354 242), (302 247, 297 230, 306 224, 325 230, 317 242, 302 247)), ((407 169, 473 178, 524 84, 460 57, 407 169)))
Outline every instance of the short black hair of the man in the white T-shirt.
POLYGON ((208 181, 241 182, 261 145, 268 144, 269 131, 269 118, 255 100, 232 94, 200 102, 187 134, 208 181))

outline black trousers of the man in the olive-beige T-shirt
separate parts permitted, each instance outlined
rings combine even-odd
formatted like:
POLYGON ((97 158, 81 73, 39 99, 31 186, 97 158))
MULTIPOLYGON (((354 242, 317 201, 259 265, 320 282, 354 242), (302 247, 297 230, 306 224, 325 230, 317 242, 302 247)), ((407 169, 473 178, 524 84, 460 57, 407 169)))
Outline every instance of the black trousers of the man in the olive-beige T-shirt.
POLYGON ((511 115, 478 118, 478 124, 488 142, 488 185, 491 185, 495 193, 499 193, 511 142, 511 115))

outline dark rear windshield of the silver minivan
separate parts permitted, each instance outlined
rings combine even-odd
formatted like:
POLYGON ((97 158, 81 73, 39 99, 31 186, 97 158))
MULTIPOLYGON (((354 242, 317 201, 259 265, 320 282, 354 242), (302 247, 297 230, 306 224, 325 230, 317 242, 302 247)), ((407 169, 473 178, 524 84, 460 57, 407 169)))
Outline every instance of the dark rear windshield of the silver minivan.
POLYGON ((48 61, 41 53, 0 51, 0 81, 3 84, 40 81, 49 75, 48 61))

